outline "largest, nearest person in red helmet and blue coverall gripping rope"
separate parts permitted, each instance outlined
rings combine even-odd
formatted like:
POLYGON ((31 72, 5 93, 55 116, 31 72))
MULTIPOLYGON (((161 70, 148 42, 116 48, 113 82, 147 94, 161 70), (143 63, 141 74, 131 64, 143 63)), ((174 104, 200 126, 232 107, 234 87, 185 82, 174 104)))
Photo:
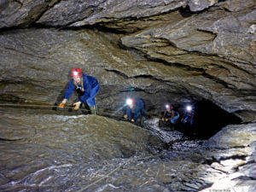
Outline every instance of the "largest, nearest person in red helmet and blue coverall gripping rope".
POLYGON ((81 104, 86 102, 90 108, 90 113, 96 114, 97 108, 95 96, 100 90, 100 84, 94 77, 87 76, 82 73, 80 68, 73 68, 71 76, 73 79, 71 79, 68 84, 65 92, 65 98, 59 105, 59 108, 63 108, 65 106, 67 100, 73 94, 73 91, 76 90, 79 96, 79 102, 73 103, 74 110, 79 110, 81 104))

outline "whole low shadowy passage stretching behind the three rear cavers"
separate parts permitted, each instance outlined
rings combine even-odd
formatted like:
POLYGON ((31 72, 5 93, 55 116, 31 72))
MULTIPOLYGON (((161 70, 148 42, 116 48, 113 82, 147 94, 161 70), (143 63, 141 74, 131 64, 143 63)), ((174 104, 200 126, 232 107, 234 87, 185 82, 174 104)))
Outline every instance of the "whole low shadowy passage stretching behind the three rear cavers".
MULTIPOLYGON (((116 108, 122 108, 120 103, 125 103, 125 100, 128 97, 143 98, 146 104, 145 119, 149 120, 146 121, 146 127, 149 126, 147 123, 150 122, 150 119, 156 117, 159 119, 157 121, 159 128, 163 131, 176 130, 183 132, 185 136, 188 136, 191 139, 208 139, 214 136, 226 125, 241 124, 241 119, 236 116, 236 114, 229 113, 223 108, 218 107, 217 104, 201 97, 162 91, 151 94, 137 88, 129 88, 129 90, 122 90, 121 92, 122 94, 119 95, 119 102, 117 102, 116 108), (174 111, 179 113, 179 118, 175 125, 170 125, 170 123, 160 123, 166 110, 166 104, 172 104, 174 111), (195 111, 195 121, 193 125, 184 125, 181 122, 183 113, 185 113, 188 105, 195 111)), ((105 112, 108 113, 108 111, 105 112)), ((119 116, 122 117, 123 113, 124 111, 120 111, 119 116)))

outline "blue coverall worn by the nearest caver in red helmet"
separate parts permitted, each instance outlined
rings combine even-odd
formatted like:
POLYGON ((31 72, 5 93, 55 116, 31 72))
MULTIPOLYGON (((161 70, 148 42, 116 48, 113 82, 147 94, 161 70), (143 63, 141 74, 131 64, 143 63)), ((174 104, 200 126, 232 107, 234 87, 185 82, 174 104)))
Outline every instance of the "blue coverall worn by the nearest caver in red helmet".
MULTIPOLYGON (((98 83, 97 79, 85 74, 83 74, 83 81, 84 95, 80 97, 80 102, 86 102, 89 108, 96 107, 95 96, 100 90, 100 84, 98 83)), ((79 88, 81 89, 81 84, 79 84, 79 88)), ((73 83, 73 79, 71 79, 65 92, 65 99, 68 100, 69 97, 73 94, 74 90, 76 90, 76 86, 73 83)))

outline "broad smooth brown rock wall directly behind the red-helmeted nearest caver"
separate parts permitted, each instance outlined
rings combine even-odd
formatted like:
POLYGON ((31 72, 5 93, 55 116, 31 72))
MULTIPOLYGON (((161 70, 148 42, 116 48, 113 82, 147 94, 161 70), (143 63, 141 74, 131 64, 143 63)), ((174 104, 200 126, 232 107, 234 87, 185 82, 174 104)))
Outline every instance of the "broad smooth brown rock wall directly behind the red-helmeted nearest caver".
MULTIPOLYGON (((41 104, 60 102, 70 70, 77 66, 99 80, 101 91, 96 98, 103 108, 116 109, 122 105, 127 90, 144 90, 148 107, 156 105, 159 108, 160 103, 170 97, 170 92, 179 100, 179 93, 187 91, 168 75, 174 73, 190 79, 185 70, 167 67, 166 72, 166 67, 160 63, 148 62, 140 55, 119 49, 111 42, 116 38, 119 37, 91 30, 3 32, 0 37, 1 98, 41 104), (162 77, 168 79, 166 84, 161 83, 162 77)), ((136 91, 131 94, 136 95, 136 91)), ((74 99, 75 96, 70 104, 74 99)))

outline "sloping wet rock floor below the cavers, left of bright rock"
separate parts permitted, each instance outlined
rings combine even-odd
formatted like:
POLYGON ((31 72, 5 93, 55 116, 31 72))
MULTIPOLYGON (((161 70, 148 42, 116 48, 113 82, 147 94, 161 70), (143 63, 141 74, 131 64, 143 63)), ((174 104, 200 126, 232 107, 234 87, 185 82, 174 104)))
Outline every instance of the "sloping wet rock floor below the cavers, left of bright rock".
POLYGON ((209 184, 201 182, 201 141, 161 131, 158 119, 142 128, 71 114, 0 108, 0 191, 197 191, 209 184))

